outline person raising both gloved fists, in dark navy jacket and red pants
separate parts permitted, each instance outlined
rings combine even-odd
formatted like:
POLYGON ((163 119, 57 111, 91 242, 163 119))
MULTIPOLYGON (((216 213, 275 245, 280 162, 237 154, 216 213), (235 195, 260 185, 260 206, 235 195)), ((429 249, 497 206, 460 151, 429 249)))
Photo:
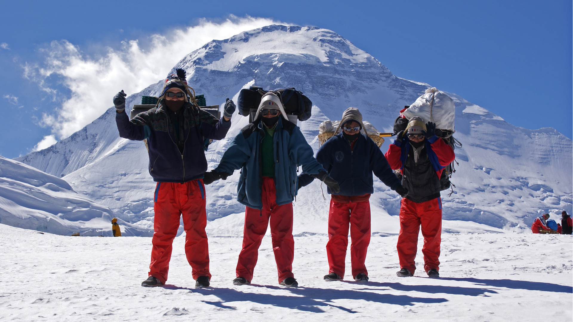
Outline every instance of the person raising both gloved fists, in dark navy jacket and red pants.
POLYGON ((167 77, 155 108, 129 120, 125 113, 125 93, 113 97, 116 123, 121 138, 147 140, 149 173, 157 182, 154 195, 154 234, 151 264, 142 286, 165 284, 171 258, 171 245, 179 218, 183 215, 186 232, 185 254, 193 268, 195 288, 209 286, 209 246, 205 226, 205 186, 203 173, 207 160, 205 139, 225 138, 231 126, 235 105, 228 100, 221 120, 203 111, 187 86, 185 70, 167 77))

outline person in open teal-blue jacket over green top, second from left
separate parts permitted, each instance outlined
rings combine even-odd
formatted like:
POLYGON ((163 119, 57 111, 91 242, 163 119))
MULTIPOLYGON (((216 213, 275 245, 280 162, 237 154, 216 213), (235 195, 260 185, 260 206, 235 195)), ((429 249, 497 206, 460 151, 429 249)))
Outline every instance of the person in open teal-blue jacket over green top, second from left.
POLYGON ((302 165, 305 173, 319 178, 331 189, 339 189, 313 154, 299 127, 288 120, 280 98, 269 92, 262 96, 254 121, 241 129, 219 166, 205 173, 205 183, 209 184, 242 169, 237 200, 246 206, 245 226, 234 285, 252 281, 258 247, 269 220, 278 283, 287 287, 299 285, 292 273, 292 202, 297 193, 297 166, 302 165))

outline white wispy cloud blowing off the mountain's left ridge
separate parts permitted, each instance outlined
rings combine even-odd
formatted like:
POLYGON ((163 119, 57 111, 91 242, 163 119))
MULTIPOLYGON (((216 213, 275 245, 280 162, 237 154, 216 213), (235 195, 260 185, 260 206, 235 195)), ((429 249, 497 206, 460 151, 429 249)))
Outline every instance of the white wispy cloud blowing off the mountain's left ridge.
MULTIPOLYGON (((152 35, 148 49, 140 48, 138 40, 131 40, 123 42, 121 50, 108 49, 107 55, 97 60, 68 41, 53 41, 46 50, 44 65, 26 64, 24 75, 40 84, 54 99, 57 92, 45 83, 46 78, 60 76, 64 87, 70 89, 71 97, 54 113, 44 114, 41 120, 42 125, 52 129, 52 139, 63 139, 111 107, 113 95, 121 89, 128 95, 139 92, 166 77, 181 58, 207 42, 273 23, 278 22, 234 16, 220 23, 203 19, 196 26, 152 35)), ((46 136, 42 142, 52 141, 46 136)))

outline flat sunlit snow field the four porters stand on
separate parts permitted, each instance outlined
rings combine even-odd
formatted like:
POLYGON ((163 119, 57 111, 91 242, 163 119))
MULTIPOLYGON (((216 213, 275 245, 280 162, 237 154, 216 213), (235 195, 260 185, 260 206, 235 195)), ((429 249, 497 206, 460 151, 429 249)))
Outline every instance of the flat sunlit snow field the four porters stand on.
POLYGON ((396 277, 397 236, 374 235, 367 283, 352 281, 350 249, 345 281, 324 282, 328 237, 295 237, 300 288, 277 284, 269 236, 253 284, 233 285, 242 239, 210 237, 207 289, 194 289, 183 235, 159 288, 140 286, 149 237, 69 237, 7 225, 0 235, 0 321, 572 320, 570 235, 442 233, 440 279, 425 277, 421 254, 414 277, 396 277))

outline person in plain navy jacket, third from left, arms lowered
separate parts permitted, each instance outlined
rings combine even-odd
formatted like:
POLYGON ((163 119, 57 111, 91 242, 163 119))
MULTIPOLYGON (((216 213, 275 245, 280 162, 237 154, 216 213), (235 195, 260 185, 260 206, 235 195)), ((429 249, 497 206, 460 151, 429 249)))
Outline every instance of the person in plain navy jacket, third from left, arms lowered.
MULTIPOLYGON (((352 277, 355 281, 367 282, 368 270, 364 261, 370 244, 370 195, 374 193, 372 172, 400 195, 406 195, 407 190, 402 187, 376 143, 360 133, 364 125, 358 108, 344 111, 340 124, 342 132, 328 139, 316 153, 316 160, 340 184, 340 191, 327 189, 331 194, 326 245, 329 269, 324 280, 339 281, 344 277, 350 226, 352 277)), ((306 186, 313 179, 306 172, 299 175, 300 186, 306 186)))

